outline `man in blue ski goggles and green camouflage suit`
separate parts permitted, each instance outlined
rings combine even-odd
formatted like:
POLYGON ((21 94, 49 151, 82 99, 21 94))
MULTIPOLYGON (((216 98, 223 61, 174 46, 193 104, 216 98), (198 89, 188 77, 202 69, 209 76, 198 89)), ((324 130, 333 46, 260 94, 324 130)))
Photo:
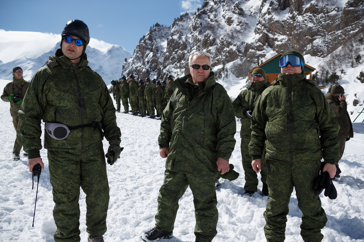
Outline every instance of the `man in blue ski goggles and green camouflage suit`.
POLYGON ((266 152, 269 201, 264 212, 265 237, 284 241, 288 204, 293 188, 302 211, 301 236, 306 242, 321 241, 327 217, 313 181, 321 159, 333 178, 340 158, 339 124, 324 94, 306 79, 305 60, 296 51, 280 59, 281 74, 260 96, 252 114, 249 153, 256 172, 266 152))

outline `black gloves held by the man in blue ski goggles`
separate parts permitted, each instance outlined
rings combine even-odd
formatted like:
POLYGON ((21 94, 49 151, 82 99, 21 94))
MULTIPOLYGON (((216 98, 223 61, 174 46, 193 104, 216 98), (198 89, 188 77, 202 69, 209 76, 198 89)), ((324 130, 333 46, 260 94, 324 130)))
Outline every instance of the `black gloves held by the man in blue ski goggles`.
POLYGON ((322 172, 325 164, 325 161, 321 163, 320 175, 317 176, 316 179, 313 181, 314 193, 318 196, 325 189, 325 197, 329 197, 330 199, 336 199, 337 191, 334 184, 332 183, 332 179, 330 178, 329 173, 327 171, 322 172))

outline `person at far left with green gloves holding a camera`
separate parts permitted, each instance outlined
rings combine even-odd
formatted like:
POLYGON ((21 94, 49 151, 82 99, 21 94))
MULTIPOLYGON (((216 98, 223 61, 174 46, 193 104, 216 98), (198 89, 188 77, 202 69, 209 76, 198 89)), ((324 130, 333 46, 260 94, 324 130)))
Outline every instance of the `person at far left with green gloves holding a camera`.
MULTIPOLYGON (((25 93, 28 90, 30 82, 25 81, 23 79, 23 69, 21 69, 21 67, 19 66, 13 68, 12 74, 13 74, 13 81, 9 82, 4 87, 1 99, 4 102, 10 102, 10 115, 13 118, 13 125, 16 131, 16 138, 13 148, 13 160, 20 160, 19 154, 21 147, 23 147, 23 141, 21 140, 21 135, 19 130, 21 120, 19 119, 18 111, 25 97, 25 93)), ((28 153, 24 152, 24 155, 27 156, 28 153)))

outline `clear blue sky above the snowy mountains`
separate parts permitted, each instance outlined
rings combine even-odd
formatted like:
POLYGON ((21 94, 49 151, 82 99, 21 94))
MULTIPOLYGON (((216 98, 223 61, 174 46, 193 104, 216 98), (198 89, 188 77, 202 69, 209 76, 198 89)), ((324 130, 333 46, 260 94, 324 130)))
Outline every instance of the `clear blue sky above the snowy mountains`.
POLYGON ((90 36, 133 52, 150 26, 171 26, 186 11, 195 11, 203 0, 0 0, 0 29, 60 34, 67 21, 79 19, 90 36))

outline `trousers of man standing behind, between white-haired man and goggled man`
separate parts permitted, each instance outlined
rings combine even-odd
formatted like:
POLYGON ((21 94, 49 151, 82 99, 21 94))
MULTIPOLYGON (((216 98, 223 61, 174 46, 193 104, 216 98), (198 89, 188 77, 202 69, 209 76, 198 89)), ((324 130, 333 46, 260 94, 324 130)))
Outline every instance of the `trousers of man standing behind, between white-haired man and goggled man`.
MULTIPOLYGON (((249 142, 250 142, 250 136, 244 136, 241 138, 241 159, 243 163, 243 169, 244 169, 244 175, 245 175, 245 184, 244 184, 244 190, 246 191, 253 191, 256 192, 258 190, 258 175, 253 170, 252 167, 252 157, 249 155, 249 142)), ((264 157, 265 153, 263 154, 264 157)), ((265 158, 262 158, 262 170, 260 171, 261 174, 261 181, 263 183, 267 183, 267 168, 265 166, 265 158)))

